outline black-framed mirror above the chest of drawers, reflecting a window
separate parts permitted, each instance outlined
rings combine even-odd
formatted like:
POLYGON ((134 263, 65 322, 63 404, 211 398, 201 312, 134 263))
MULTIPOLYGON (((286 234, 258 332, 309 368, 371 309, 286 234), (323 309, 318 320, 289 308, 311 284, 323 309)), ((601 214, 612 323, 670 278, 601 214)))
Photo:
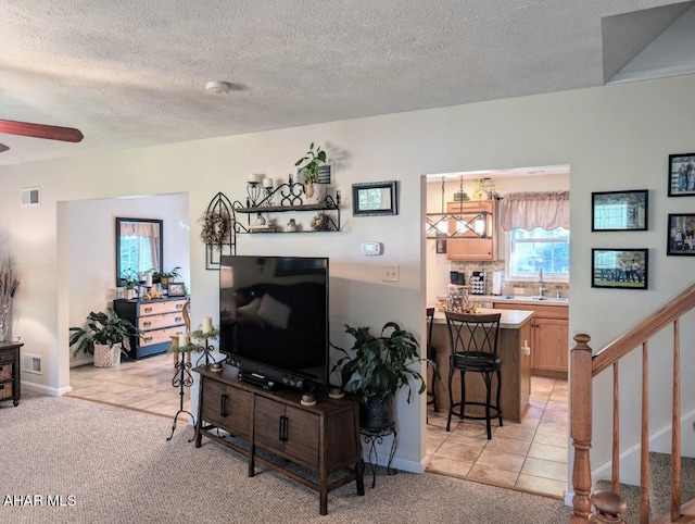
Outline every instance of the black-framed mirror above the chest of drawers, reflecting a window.
POLYGON ((116 286, 125 287, 138 273, 164 267, 163 221, 156 219, 116 217, 116 286))

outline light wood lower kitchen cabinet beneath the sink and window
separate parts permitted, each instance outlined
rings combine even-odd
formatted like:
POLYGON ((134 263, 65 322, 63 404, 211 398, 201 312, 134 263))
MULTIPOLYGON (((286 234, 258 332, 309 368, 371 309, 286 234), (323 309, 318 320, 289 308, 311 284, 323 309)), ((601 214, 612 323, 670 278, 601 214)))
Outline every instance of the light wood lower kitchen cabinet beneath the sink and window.
POLYGON ((495 302, 495 309, 533 311, 531 320, 531 373, 567 378, 569 310, 566 305, 495 302))

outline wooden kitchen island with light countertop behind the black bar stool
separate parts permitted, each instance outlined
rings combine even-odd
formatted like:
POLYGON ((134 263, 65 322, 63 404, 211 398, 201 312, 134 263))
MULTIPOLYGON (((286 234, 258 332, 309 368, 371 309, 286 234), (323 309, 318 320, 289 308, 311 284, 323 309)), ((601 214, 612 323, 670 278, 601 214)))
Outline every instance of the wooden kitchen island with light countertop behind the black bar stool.
MULTIPOLYGON (((531 358, 525 348, 531 345, 531 319, 533 311, 495 310, 482 308, 479 313, 501 313, 497 354, 502 359, 502 404, 503 421, 521 422, 529 408, 531 391, 531 358)), ((435 348, 434 362, 441 380, 434 380, 437 407, 440 412, 448 411, 448 358, 450 340, 444 313, 435 311, 432 326, 432 346, 435 348)), ((496 380, 495 380, 496 384, 496 380)), ((460 400, 460 375, 456 373, 452 389, 454 401, 460 400)), ((494 390, 493 390, 494 391, 494 390)), ((484 402, 485 387, 479 373, 466 374, 466 400, 484 402)), ((471 411, 475 412, 475 411, 471 411)))

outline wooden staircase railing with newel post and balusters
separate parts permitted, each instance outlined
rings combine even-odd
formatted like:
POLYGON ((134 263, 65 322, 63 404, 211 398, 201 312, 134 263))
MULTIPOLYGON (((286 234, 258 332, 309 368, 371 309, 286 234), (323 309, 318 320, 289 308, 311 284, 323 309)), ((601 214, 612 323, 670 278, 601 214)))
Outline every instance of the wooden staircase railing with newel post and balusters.
POLYGON ((572 472, 571 523, 623 522, 619 513, 624 511, 624 502, 619 497, 591 496, 592 441, 592 388, 593 378, 612 366, 612 447, 611 447, 611 490, 620 494, 620 399, 619 361, 634 349, 642 348, 642 424, 640 458, 640 523, 649 521, 649 446, 648 446, 648 345, 649 339, 669 325, 673 326, 673 407, 671 414, 671 522, 677 522, 684 508, 681 504, 681 380, 680 380, 680 319, 695 308, 695 284, 652 313, 643 322, 620 336, 604 349, 592 355, 586 334, 574 336, 574 347, 570 351, 570 435, 574 447, 572 472), (596 508, 592 514, 592 503, 596 508))

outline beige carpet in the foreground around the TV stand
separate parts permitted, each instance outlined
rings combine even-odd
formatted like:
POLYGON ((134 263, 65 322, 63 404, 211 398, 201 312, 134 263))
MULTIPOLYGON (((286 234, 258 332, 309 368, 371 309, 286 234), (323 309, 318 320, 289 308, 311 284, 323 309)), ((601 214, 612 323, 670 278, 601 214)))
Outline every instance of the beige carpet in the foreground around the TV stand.
POLYGON ((0 522, 13 523, 567 523, 556 499, 437 474, 400 472, 318 495, 256 466, 172 420, 76 398, 26 394, 17 408, 0 403, 0 522), (18 500, 38 506, 9 506, 18 500), (64 506, 48 507, 62 496, 64 506), (27 497, 31 496, 31 497, 27 497))

